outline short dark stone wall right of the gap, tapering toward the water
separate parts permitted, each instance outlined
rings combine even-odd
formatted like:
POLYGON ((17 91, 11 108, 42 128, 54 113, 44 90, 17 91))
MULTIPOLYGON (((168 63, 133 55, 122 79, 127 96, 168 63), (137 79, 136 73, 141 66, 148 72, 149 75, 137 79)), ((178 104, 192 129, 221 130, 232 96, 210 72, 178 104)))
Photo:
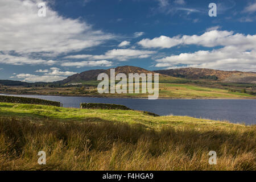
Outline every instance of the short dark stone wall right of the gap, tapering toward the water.
POLYGON ((114 109, 114 110, 132 110, 124 105, 102 104, 102 103, 81 103, 81 109, 114 109))

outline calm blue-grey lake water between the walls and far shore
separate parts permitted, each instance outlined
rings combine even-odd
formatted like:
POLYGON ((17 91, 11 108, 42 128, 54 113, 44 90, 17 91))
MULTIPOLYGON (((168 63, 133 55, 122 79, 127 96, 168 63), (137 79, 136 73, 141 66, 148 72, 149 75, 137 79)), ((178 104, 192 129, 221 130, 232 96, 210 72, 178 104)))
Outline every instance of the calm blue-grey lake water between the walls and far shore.
MULTIPOLYGON (((15 95, 12 95, 15 96, 15 95)), ((121 104, 131 109, 159 115, 188 115, 196 118, 256 124, 256 100, 147 100, 135 98, 94 98, 22 96, 59 101, 63 107, 79 107, 80 102, 121 104)))

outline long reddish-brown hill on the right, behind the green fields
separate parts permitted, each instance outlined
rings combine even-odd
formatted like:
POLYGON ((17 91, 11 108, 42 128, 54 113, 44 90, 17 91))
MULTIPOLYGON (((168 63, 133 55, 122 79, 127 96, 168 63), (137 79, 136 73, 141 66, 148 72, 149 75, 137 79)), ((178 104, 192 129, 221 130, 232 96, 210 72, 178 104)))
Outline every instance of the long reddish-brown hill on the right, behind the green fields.
POLYGON ((188 78, 192 80, 208 79, 220 82, 256 83, 255 72, 220 71, 205 68, 179 68, 157 70, 154 72, 173 77, 188 78))

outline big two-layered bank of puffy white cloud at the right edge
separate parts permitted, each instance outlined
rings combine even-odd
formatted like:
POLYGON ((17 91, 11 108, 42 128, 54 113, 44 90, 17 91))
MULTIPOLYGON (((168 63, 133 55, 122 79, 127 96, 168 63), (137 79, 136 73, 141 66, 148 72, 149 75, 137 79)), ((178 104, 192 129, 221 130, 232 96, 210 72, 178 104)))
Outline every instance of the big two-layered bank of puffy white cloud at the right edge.
MULTIPOLYGON (((213 31, 211 31, 213 32, 213 31)), ((205 34, 207 34, 206 32, 205 34)), ((233 34, 214 31, 212 36, 191 36, 183 44, 196 44, 204 47, 223 46, 211 51, 180 53, 156 59, 156 67, 196 67, 222 70, 256 70, 256 35, 233 34), (220 33, 220 35, 216 35, 220 33), (204 37, 204 39, 203 39, 204 37), (209 44, 207 44, 209 43, 209 44), (184 66, 185 65, 185 66, 184 66)), ((181 38, 182 39, 182 38, 181 38)))

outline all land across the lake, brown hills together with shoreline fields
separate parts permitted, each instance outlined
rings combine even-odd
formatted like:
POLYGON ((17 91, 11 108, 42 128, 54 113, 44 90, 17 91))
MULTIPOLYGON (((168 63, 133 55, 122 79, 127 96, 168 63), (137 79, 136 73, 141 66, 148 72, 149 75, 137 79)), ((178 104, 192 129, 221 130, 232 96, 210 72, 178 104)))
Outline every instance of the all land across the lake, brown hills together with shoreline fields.
MULTIPOLYGON (((159 73, 159 98, 256 98, 256 73, 181 68, 155 71, 159 73)), ((115 74, 151 73, 139 67, 115 68, 115 74)), ((0 80, 0 93, 43 94, 54 96, 148 97, 147 94, 99 94, 97 76, 110 74, 110 69, 95 69, 69 76, 62 81, 27 83, 0 80)), ((154 79, 153 79, 154 80, 154 79)), ((119 82, 115 80, 115 82, 119 82)))

